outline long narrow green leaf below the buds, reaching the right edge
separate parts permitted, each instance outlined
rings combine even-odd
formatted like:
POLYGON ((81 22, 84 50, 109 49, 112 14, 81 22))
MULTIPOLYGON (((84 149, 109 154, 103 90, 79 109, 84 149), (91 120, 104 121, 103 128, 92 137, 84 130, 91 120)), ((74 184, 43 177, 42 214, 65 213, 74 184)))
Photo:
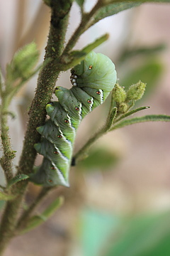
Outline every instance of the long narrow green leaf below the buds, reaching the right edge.
POLYGON ((115 124, 110 131, 113 131, 113 129, 118 129, 125 127, 130 124, 137 124, 140 122, 170 122, 170 116, 167 116, 166 114, 148 114, 144 117, 134 117, 132 119, 126 119, 118 124, 115 124))

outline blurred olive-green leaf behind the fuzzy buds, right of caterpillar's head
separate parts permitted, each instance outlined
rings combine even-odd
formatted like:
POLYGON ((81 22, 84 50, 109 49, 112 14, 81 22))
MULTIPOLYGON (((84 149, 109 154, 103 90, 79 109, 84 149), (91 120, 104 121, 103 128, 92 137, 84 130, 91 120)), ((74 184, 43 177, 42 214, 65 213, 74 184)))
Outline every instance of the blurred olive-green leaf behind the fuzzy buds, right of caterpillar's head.
POLYGON ((157 80, 159 80, 160 76, 162 75, 162 71, 162 63, 157 60, 147 60, 144 65, 133 68, 128 75, 123 77, 123 80, 120 79, 120 85, 128 90, 130 85, 138 82, 139 80, 146 82, 147 87, 145 90, 145 95, 142 97, 143 100, 145 97, 149 96, 152 90, 154 90, 155 86, 157 85, 157 80))

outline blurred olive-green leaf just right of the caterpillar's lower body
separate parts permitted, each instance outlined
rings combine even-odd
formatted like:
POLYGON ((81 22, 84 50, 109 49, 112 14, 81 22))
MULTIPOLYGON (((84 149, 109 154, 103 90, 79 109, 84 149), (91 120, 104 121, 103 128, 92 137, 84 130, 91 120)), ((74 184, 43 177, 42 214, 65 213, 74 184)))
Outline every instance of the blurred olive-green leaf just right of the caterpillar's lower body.
POLYGON ((84 167, 86 171, 93 171, 96 169, 106 171, 109 167, 116 164, 117 161, 118 155, 111 152, 111 150, 98 148, 91 150, 89 156, 82 160, 79 165, 84 167))

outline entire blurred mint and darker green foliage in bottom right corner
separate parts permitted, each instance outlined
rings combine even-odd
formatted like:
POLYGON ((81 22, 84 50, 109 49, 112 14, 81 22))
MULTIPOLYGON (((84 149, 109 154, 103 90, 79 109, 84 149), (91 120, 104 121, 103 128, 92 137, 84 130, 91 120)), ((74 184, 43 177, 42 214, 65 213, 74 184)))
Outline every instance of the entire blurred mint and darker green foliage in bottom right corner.
POLYGON ((106 211, 81 213, 83 256, 169 256, 170 212, 120 218, 106 211))

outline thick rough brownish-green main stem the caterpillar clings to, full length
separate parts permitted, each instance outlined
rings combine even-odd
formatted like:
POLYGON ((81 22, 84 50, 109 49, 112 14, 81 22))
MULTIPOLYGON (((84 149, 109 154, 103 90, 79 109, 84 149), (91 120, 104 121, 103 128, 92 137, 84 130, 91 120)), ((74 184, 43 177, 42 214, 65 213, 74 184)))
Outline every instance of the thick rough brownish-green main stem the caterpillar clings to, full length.
MULTIPOLYGON (((50 58, 50 62, 42 67, 38 77, 38 86, 30 107, 30 118, 18 165, 18 174, 30 174, 33 169, 36 156, 33 145, 40 139, 40 135, 36 132, 36 127, 45 122, 45 105, 50 102, 55 82, 60 73, 60 70, 57 70, 56 67, 64 48, 64 38, 72 3, 69 4, 67 1, 65 6, 63 4, 60 6, 58 3, 59 1, 55 1, 52 6, 50 32, 45 49, 45 60, 50 58)), ((15 233, 18 211, 20 210, 27 184, 28 181, 16 183, 15 193, 18 193, 19 196, 6 204, 0 228, 0 255, 15 233)))

